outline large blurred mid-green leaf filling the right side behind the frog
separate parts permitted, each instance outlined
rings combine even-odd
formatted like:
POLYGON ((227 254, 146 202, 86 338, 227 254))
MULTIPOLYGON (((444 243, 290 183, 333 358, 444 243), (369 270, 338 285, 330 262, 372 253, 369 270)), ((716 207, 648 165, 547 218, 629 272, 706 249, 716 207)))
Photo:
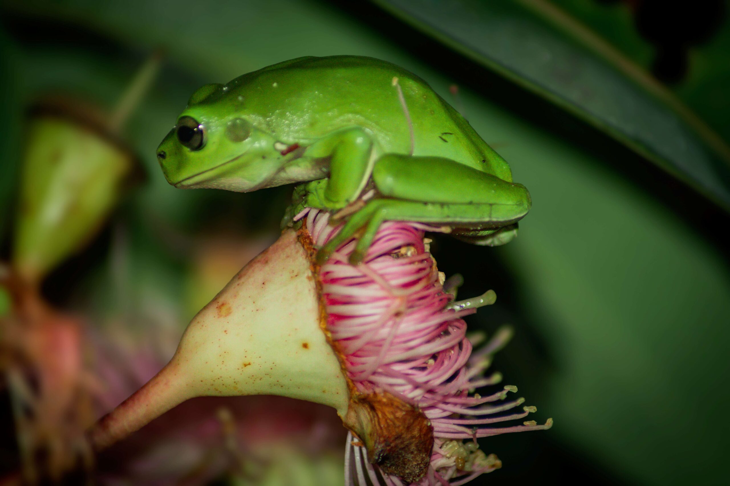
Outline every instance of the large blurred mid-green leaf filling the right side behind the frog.
POLYGON ((548 397, 531 403, 621 484, 722 484, 726 259, 618 174, 534 137, 502 151, 536 203, 498 248, 557 360, 548 397))

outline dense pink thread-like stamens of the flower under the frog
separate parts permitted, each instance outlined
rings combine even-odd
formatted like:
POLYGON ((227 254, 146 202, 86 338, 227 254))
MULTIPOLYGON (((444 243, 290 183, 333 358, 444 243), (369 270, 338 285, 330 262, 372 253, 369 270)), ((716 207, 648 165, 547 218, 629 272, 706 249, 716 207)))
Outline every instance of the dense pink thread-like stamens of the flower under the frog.
MULTIPOLYGON (((328 224, 329 213, 307 209, 298 219, 304 216, 317 247, 339 231, 328 224)), ((472 353, 462 318, 475 313, 478 305, 452 302, 453 296, 444 291, 423 240, 424 230, 434 228, 385 222, 363 264, 354 267, 348 262, 356 244, 353 239, 343 243, 319 270, 328 332, 352 385, 364 394, 385 391, 417 406, 433 431, 426 474, 412 483, 371 463, 377 458, 368 458, 364 444, 350 433, 345 448, 348 486, 364 486, 366 477, 374 485, 463 485, 502 465, 495 455, 479 449, 477 438, 552 426, 551 419, 544 425, 532 420, 516 426, 494 425, 536 411, 520 407, 521 398, 505 401, 508 393, 517 391, 514 386, 487 396, 470 394, 501 380, 499 373, 485 377, 484 372, 491 354, 504 345, 509 333, 497 333, 472 353)))

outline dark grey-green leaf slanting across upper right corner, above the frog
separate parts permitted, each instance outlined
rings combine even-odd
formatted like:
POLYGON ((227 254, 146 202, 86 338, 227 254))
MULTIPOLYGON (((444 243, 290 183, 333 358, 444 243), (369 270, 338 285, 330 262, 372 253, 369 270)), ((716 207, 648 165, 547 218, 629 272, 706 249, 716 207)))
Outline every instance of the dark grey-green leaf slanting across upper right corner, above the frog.
POLYGON ((730 147, 663 85, 546 0, 374 0, 730 208, 730 147))

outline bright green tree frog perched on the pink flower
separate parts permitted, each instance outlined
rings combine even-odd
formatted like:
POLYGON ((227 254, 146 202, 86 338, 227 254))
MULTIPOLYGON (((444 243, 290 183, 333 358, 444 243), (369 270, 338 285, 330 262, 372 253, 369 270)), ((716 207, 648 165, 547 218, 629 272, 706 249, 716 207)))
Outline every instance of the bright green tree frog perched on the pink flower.
POLYGON ((350 262, 359 264, 384 221, 502 245, 531 205, 507 162, 423 79, 359 56, 298 58, 205 85, 157 156, 175 187, 299 184, 286 224, 305 207, 335 219, 344 209, 347 222, 320 248, 320 263, 358 235, 350 262))

